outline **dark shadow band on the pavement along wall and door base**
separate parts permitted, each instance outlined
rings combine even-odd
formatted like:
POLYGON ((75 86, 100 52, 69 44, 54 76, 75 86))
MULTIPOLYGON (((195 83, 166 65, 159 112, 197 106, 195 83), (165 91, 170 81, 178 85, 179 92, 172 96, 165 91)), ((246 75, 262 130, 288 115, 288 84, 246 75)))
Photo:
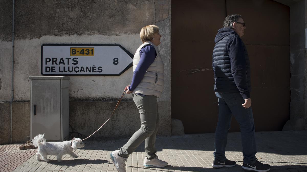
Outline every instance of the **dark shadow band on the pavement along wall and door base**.
MULTIPOLYGON (((256 132, 257 152, 280 155, 307 155, 307 131, 256 132)), ((214 151, 215 133, 187 134, 185 136, 157 136, 156 149, 214 151)), ((86 150, 114 151, 127 143, 130 137, 90 138, 86 150)), ((135 150, 144 151, 144 143, 135 150)), ((242 152, 241 133, 228 133, 226 151, 242 152)))

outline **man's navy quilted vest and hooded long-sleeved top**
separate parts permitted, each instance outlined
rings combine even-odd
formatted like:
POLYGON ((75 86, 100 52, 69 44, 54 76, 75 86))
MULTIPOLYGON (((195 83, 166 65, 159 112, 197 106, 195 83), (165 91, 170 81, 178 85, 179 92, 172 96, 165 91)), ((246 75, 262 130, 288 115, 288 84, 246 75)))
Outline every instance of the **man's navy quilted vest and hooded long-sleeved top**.
POLYGON ((246 47, 230 28, 219 29, 212 54, 215 92, 240 92, 250 98, 251 69, 246 47))

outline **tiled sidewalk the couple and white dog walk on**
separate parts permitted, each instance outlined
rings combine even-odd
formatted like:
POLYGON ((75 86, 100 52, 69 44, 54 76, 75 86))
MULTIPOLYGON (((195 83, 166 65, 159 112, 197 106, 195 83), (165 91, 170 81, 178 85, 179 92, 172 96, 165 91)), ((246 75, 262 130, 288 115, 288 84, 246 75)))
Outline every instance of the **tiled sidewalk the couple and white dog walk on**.
MULTIPOLYGON (((122 139, 87 139, 82 149, 75 153, 78 158, 69 155, 63 157, 64 162, 58 163, 55 156, 49 163, 38 162, 34 152, 27 153, 19 151, 15 160, 20 161, 24 154, 33 154, 14 171, 116 171, 111 159, 110 152, 121 147, 129 138, 122 139)), ((274 172, 306 172, 307 171, 307 131, 278 131, 278 132, 256 132, 256 143, 258 153, 256 158, 263 163, 271 165, 274 172)), ((9 145, 0 145, 1 148, 9 145)), ((244 171, 242 165, 242 146, 240 133, 229 133, 226 148, 226 157, 237 161, 235 167, 213 169, 214 133, 188 134, 185 136, 158 136, 156 141, 157 155, 160 159, 168 162, 163 168, 145 168, 143 159, 145 157, 144 143, 130 155, 126 163, 127 171, 214 171, 214 172, 237 172, 244 171)), ((4 150, 5 151, 5 150, 4 150)), ((0 155, 1 152, 0 152, 0 155)), ((7 155, 8 156, 8 155, 7 155)), ((3 168, 3 162, 8 163, 7 156, 0 159, 0 171, 9 171, 3 168)), ((10 156, 12 157, 12 156, 10 156)), ((12 166, 6 164, 5 166, 12 166)), ((10 171, 12 171, 10 170, 10 171)))

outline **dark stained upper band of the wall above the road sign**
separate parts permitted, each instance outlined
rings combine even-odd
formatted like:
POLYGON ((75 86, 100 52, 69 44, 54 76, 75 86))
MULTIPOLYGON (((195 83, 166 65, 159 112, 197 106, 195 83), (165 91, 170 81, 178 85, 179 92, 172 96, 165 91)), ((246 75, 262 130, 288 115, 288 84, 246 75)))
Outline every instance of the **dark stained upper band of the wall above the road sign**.
MULTIPOLYGON (((139 33, 144 24, 153 24, 153 0, 21 0, 16 1, 16 39, 44 35, 118 35, 139 33)), ((1 40, 11 40, 12 1, 1 0, 4 20, 1 40)))

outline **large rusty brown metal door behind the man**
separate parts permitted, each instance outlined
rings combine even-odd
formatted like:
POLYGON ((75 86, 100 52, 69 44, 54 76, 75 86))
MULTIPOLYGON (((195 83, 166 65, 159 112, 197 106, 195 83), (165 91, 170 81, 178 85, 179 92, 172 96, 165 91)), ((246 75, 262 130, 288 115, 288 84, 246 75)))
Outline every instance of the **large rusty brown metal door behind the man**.
MULTIPOLYGON (((256 131, 278 131, 289 119, 290 8, 272 0, 171 2, 171 116, 185 133, 215 132, 218 103, 213 91, 212 50, 229 14, 241 14, 242 37, 251 62, 256 131)), ((233 118, 231 132, 239 131, 233 118)))

